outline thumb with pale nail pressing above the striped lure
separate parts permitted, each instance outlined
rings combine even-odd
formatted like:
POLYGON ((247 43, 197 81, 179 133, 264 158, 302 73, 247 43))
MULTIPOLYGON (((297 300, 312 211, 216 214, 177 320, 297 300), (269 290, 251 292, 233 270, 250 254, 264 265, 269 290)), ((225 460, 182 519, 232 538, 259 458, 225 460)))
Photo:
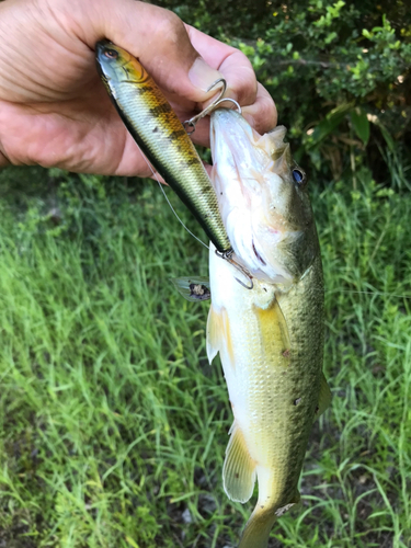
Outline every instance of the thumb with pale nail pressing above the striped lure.
POLYGON ((222 75, 199 56, 173 12, 135 0, 80 3, 78 13, 90 12, 94 34, 84 24, 82 39, 91 48, 98 39, 109 38, 138 57, 164 91, 190 101, 202 103, 216 93, 207 89, 222 75))

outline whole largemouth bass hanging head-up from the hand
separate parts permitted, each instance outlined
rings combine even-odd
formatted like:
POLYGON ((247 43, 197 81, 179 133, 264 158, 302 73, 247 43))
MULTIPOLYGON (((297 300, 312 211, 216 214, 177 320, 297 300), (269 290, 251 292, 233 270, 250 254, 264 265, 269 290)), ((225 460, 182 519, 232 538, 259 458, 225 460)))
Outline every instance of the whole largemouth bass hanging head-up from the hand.
POLYGON ((276 517, 298 502, 308 436, 330 401, 320 248, 284 136, 277 127, 261 137, 235 111, 212 114, 212 180, 237 258, 254 275, 244 288, 212 247, 207 354, 220 354, 233 412, 224 488, 246 502, 259 484, 240 548, 265 548, 276 517))

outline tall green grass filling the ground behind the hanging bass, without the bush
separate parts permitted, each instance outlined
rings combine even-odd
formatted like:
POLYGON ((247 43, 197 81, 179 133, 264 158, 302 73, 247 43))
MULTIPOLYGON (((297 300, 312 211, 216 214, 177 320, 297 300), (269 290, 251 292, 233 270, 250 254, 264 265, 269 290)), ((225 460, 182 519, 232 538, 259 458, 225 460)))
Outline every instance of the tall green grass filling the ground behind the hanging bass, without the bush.
MULTIPOLYGON (((255 498, 221 487, 208 305, 169 282, 206 250, 152 182, 4 170, 0 190, 0 546, 236 546, 255 498)), ((311 191, 333 401, 271 547, 409 547, 411 197, 366 171, 311 191)))

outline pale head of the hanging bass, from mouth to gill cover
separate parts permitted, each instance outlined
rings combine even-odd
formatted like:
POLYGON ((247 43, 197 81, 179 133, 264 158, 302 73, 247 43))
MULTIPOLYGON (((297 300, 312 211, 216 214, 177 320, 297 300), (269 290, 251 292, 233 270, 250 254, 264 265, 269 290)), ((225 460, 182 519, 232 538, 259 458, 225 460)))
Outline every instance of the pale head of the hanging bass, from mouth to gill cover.
POLYGON ((285 134, 277 126, 261 136, 232 110, 212 114, 212 182, 236 256, 252 276, 290 285, 315 249, 311 207, 293 176, 285 134))

